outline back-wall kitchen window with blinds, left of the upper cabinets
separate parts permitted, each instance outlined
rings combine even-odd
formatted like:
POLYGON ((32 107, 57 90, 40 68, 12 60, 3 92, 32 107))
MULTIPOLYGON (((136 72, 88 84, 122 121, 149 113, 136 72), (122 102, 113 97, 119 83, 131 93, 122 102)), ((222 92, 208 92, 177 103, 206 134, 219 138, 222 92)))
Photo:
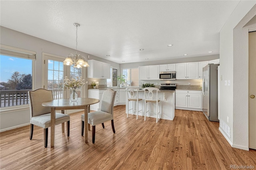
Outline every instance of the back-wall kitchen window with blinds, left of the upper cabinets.
POLYGON ((122 69, 122 75, 126 77, 126 85, 128 86, 139 86, 139 69, 122 69))

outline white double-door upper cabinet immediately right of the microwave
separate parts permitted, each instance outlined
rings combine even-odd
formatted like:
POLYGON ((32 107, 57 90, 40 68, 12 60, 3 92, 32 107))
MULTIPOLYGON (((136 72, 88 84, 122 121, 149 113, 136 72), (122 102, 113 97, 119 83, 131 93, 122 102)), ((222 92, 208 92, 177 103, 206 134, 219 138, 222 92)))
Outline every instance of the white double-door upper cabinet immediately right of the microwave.
POLYGON ((198 79, 198 62, 177 63, 176 79, 198 79))

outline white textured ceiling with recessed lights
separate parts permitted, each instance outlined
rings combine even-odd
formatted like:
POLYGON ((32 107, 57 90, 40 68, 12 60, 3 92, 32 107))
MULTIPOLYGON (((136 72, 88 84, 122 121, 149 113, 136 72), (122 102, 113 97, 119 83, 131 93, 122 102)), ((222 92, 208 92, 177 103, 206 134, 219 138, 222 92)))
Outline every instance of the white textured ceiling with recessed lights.
POLYGON ((219 32, 239 2, 1 0, 0 24, 76 49, 76 22, 79 51, 133 63, 219 54, 219 32))

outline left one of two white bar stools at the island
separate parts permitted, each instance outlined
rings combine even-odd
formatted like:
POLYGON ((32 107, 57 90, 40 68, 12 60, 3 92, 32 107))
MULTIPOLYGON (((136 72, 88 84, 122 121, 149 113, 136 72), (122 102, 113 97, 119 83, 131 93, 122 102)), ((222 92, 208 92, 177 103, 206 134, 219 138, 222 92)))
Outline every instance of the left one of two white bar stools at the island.
POLYGON ((142 99, 140 99, 138 96, 138 90, 139 90, 138 87, 126 87, 127 118, 130 110, 132 110, 132 114, 134 114, 134 112, 137 112, 137 119, 138 119, 139 112, 141 112, 141 115, 143 116, 142 104, 141 104, 141 110, 139 110, 139 102, 142 101, 142 99), (132 101, 132 109, 129 109, 129 101, 132 101), (136 110, 134 110, 134 102, 136 102, 136 110))

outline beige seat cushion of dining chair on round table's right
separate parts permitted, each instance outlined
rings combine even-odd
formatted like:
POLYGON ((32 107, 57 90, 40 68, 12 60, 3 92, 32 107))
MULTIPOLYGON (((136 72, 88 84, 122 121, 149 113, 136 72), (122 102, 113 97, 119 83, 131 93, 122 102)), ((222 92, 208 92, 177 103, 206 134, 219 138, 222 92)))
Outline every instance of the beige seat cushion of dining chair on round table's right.
MULTIPOLYGON (((92 126, 104 123, 106 121, 112 120, 113 117, 110 113, 104 111, 96 111, 88 113, 88 123, 92 126)), ((81 120, 84 121, 84 114, 81 117, 81 120)))

